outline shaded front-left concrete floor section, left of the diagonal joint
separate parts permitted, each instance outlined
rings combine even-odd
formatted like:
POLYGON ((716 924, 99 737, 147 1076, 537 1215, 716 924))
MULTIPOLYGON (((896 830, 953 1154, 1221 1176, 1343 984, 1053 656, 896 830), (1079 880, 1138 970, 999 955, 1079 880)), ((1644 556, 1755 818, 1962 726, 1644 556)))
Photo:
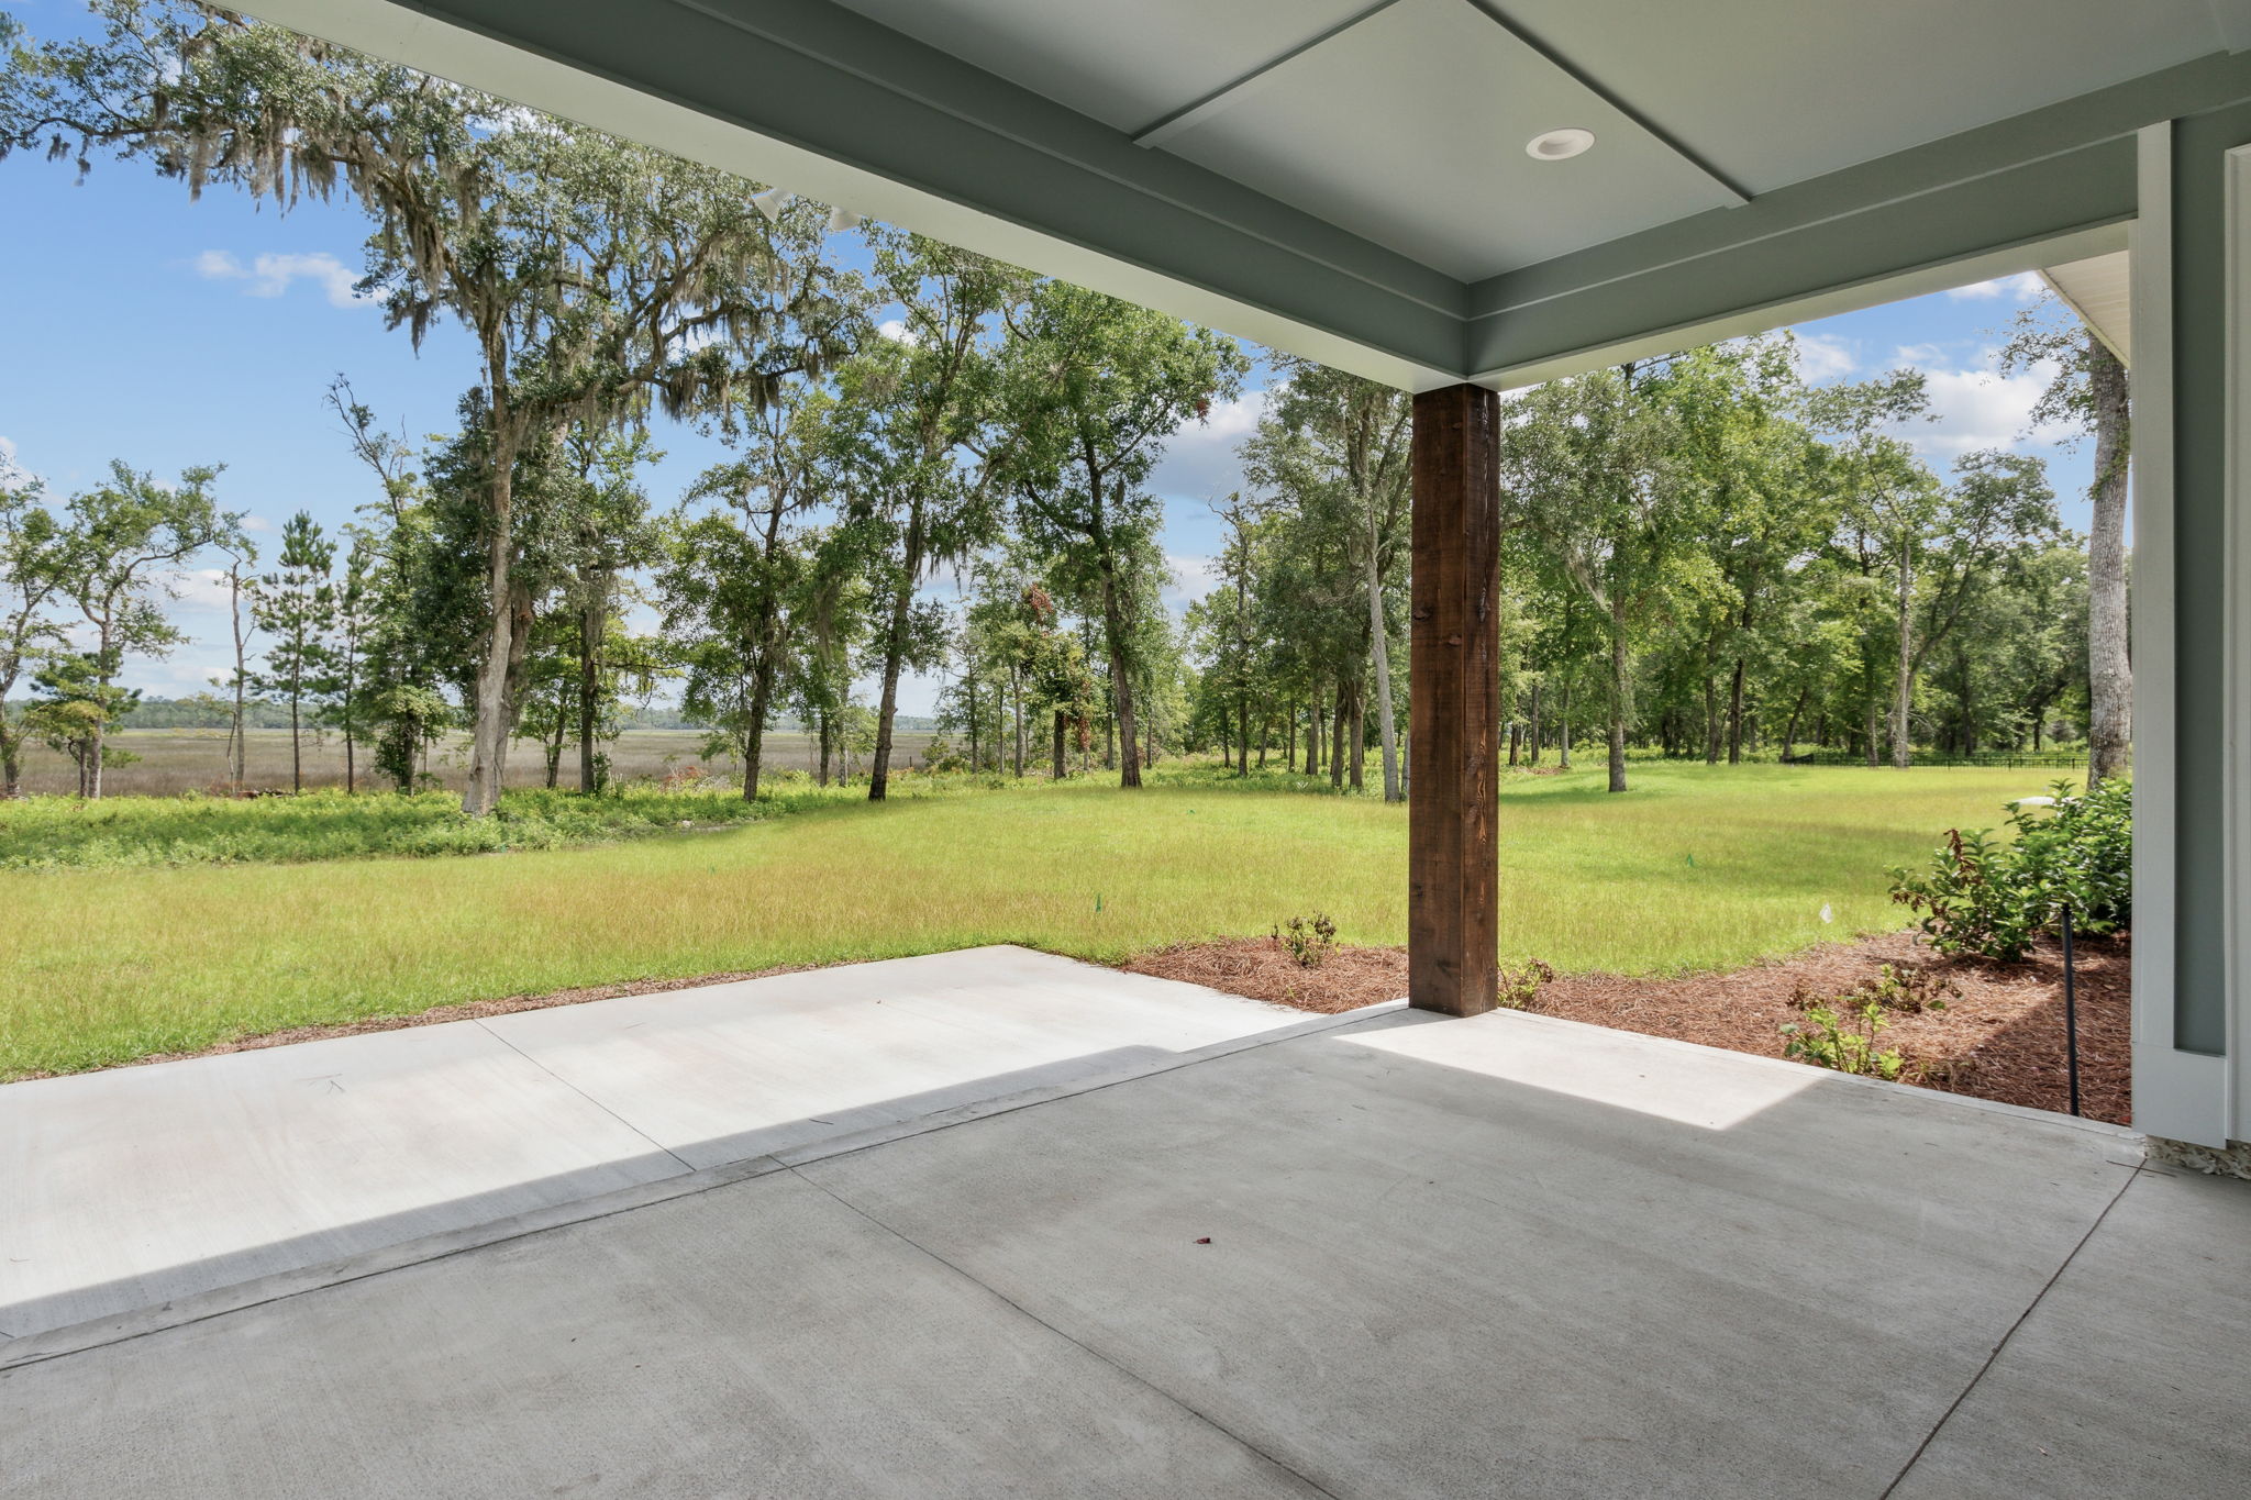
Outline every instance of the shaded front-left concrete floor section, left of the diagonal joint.
POLYGON ((0 1372, 34 1496, 1312 1496, 770 1176, 0 1372))

